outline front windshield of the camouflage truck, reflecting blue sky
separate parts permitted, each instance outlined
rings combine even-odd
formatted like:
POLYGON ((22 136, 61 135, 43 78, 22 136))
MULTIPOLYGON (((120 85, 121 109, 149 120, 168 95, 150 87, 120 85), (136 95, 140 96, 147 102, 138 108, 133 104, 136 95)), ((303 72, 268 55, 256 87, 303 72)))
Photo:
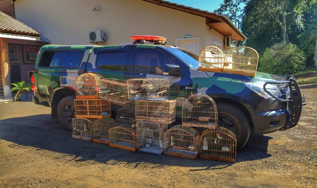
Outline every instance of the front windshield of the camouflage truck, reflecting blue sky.
POLYGON ((193 69, 198 69, 198 56, 181 48, 165 48, 193 69))

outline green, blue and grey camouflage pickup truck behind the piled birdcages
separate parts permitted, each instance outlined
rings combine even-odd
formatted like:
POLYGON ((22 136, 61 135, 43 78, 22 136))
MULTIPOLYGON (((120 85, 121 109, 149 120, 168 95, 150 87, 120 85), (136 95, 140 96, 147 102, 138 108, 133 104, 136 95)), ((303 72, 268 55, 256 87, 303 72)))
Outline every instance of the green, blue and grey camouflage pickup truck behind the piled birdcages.
POLYGON ((83 72, 118 81, 169 78, 170 98, 177 100, 177 118, 181 118, 189 95, 207 94, 217 104, 218 124, 237 134, 238 148, 248 141, 251 129, 255 134, 267 134, 298 123, 305 101, 293 76, 256 72, 255 77, 249 77, 197 69, 197 55, 166 45, 45 45, 34 65, 32 100, 51 107, 52 118, 70 128, 75 80, 83 72))

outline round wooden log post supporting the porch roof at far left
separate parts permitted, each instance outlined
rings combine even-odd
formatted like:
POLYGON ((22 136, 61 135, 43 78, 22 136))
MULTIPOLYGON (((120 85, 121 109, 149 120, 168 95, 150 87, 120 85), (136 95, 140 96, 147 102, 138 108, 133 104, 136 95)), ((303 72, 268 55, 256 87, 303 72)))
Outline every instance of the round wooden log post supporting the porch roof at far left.
POLYGON ((9 47, 8 39, 0 38, 0 52, 1 52, 1 74, 2 74, 2 87, 4 98, 12 97, 11 88, 11 75, 10 75, 10 63, 9 63, 9 47))

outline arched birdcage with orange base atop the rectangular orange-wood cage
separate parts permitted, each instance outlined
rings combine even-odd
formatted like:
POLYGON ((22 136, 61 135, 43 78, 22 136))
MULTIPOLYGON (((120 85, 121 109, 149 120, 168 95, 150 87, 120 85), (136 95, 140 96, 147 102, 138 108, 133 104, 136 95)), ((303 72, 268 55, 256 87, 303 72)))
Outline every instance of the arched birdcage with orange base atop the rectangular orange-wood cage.
POLYGON ((99 74, 83 73, 78 76, 75 82, 76 98, 77 99, 95 99, 97 98, 96 89, 99 87, 99 82, 104 79, 99 74))

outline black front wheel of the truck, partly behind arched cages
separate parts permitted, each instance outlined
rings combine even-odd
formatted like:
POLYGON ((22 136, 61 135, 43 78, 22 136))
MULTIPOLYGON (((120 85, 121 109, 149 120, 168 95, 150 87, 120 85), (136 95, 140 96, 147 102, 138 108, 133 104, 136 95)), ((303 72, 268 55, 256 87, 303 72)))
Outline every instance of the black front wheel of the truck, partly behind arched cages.
POLYGON ((237 149, 249 140, 251 128, 247 116, 233 104, 217 103, 218 125, 228 128, 237 135, 237 149))

